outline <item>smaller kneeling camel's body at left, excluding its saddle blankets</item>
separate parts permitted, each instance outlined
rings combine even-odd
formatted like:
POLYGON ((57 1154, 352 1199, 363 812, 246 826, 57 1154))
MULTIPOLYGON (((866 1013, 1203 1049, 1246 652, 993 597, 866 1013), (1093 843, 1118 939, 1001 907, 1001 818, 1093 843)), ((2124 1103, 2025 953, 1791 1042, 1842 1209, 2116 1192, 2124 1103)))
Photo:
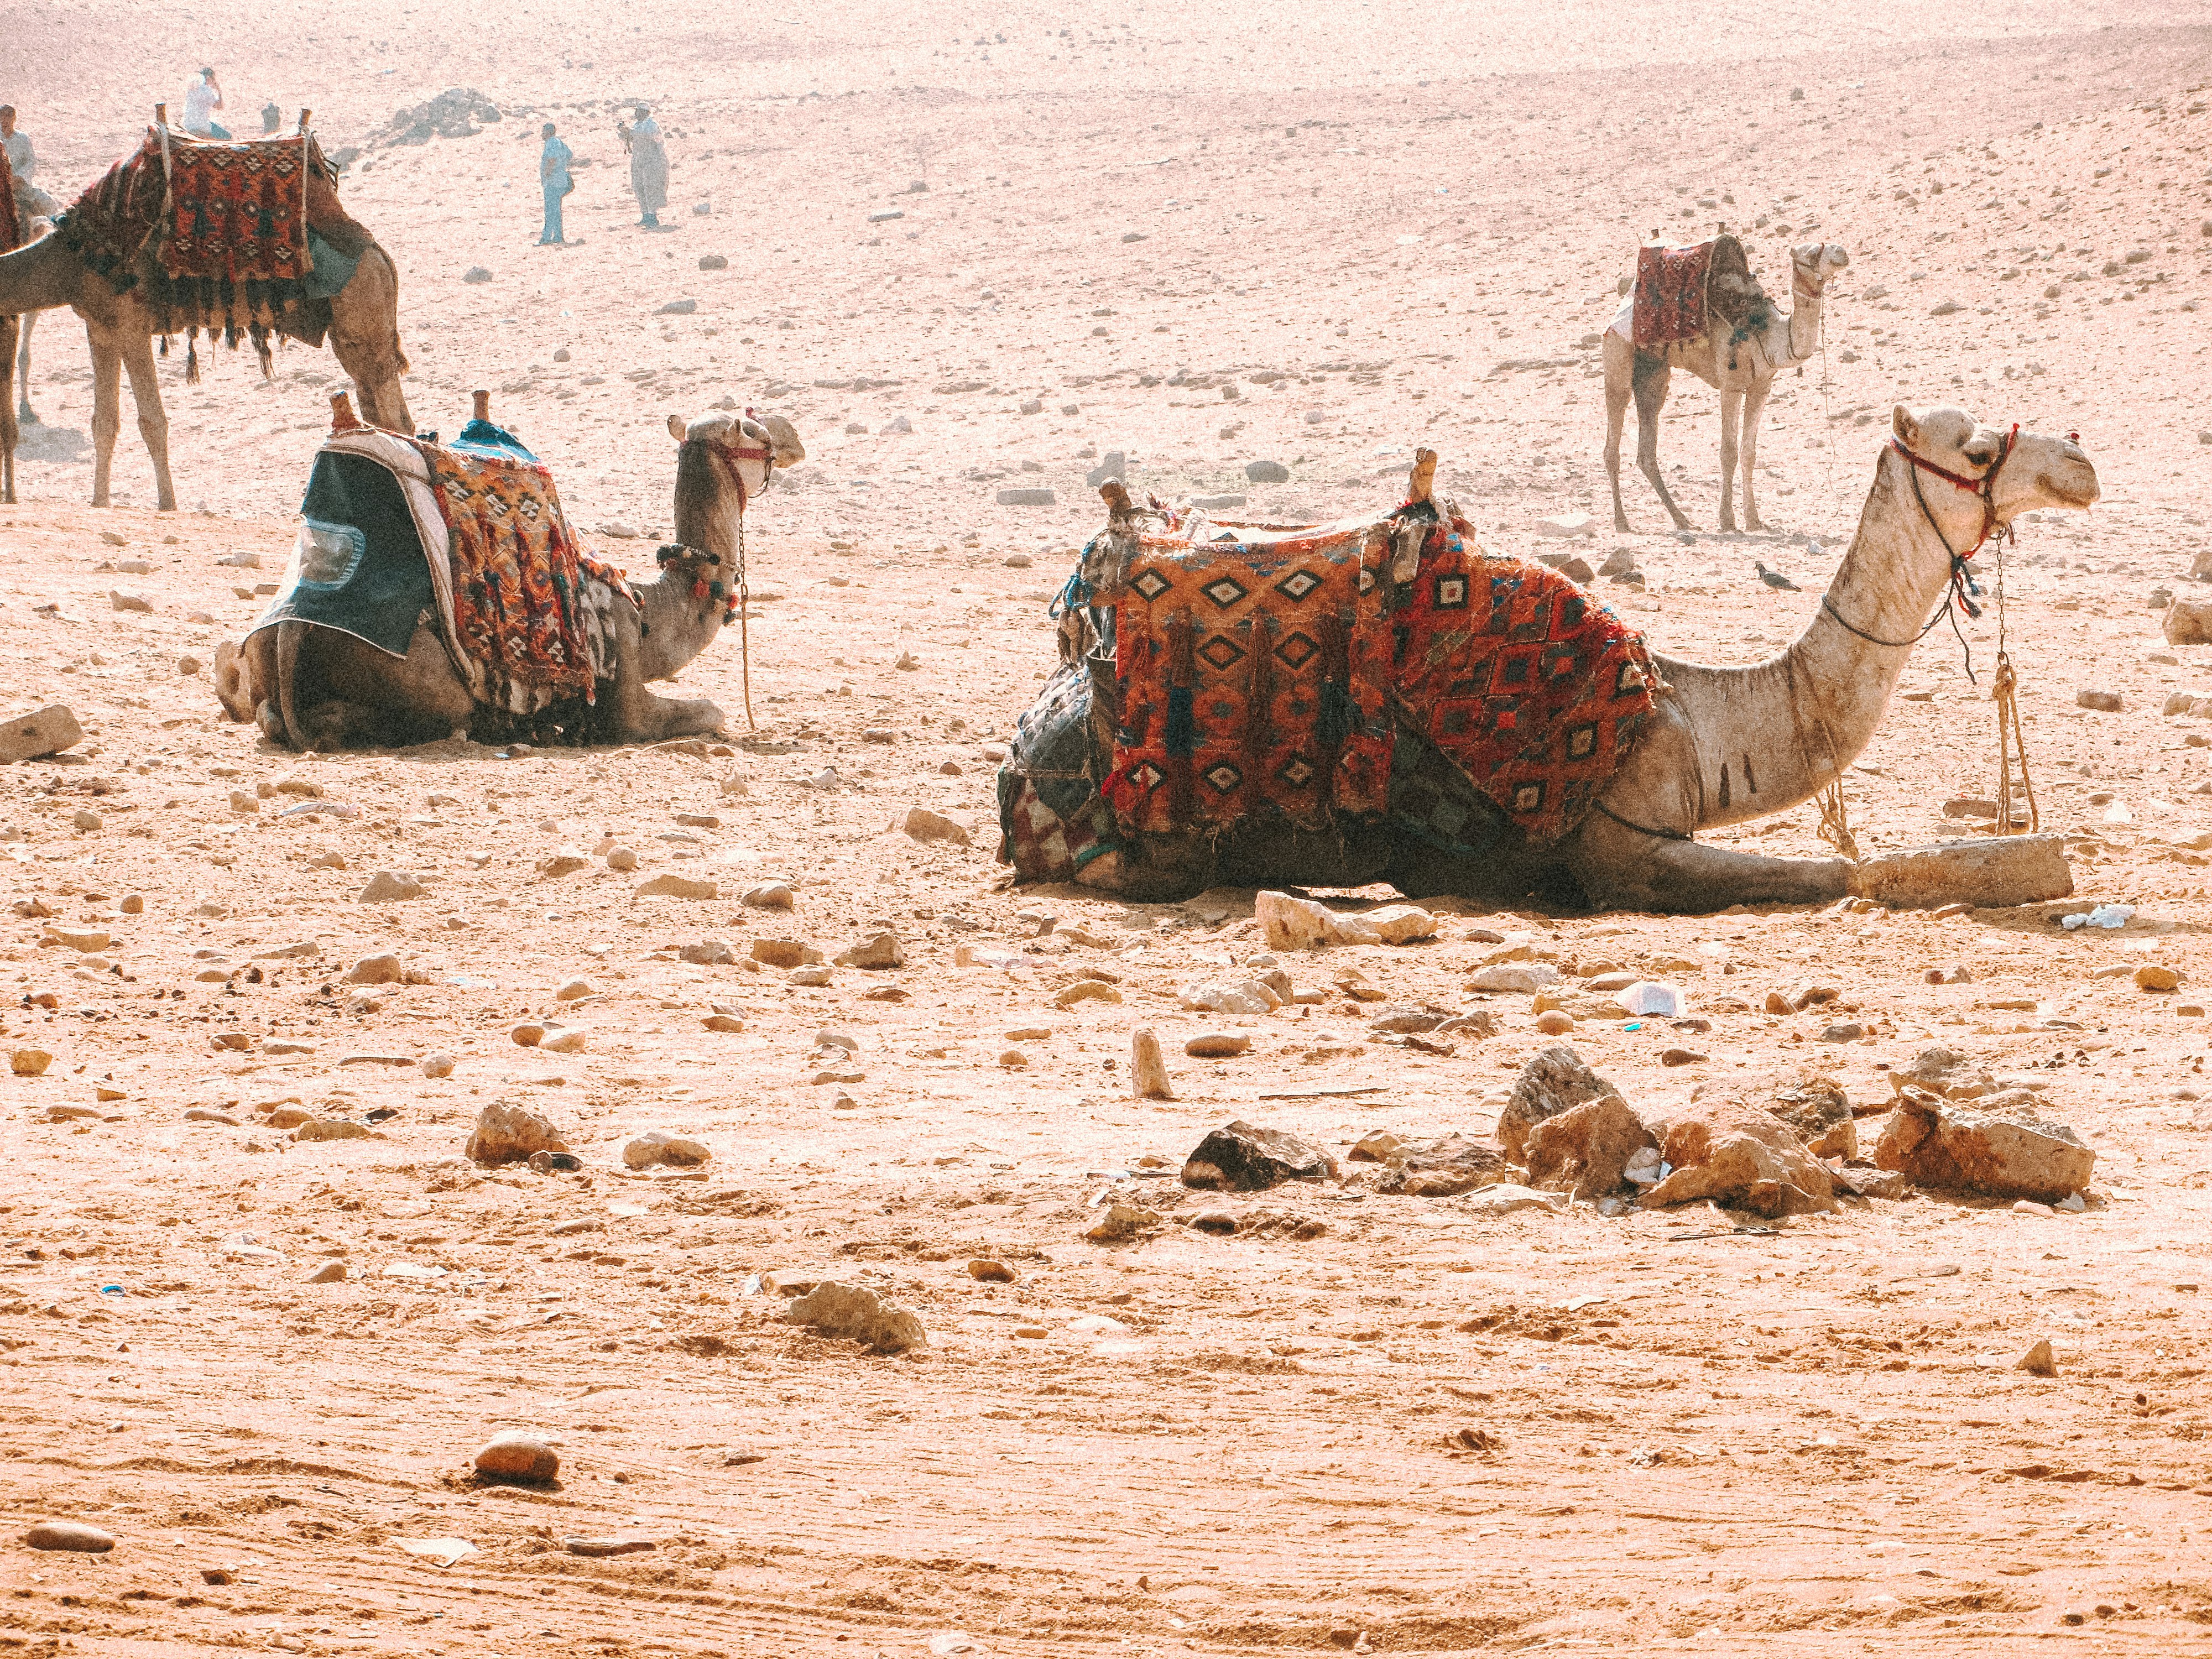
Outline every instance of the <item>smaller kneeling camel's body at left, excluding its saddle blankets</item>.
MULTIPOLYGON (((343 396, 343 394, 341 394, 343 396)), ((484 394, 478 396, 478 418, 484 394)), ((336 398, 334 398, 336 403, 336 398)), ((345 425, 349 416, 341 416, 345 425)), ((613 672, 597 699, 555 706, 546 719, 599 743, 659 743, 712 734, 723 712, 706 699, 655 697, 650 681, 675 679, 723 628, 723 573, 743 549, 745 502, 768 489, 779 467, 805 460, 792 422, 708 414, 692 422, 668 416, 677 440, 675 544, 659 551, 661 571, 633 582, 637 604, 611 602, 604 582, 586 577, 586 604, 613 619, 613 672)), ((440 549, 442 551, 442 549, 440 549)), ((418 622, 405 657, 330 628, 281 622, 223 641, 215 657, 215 695, 234 721, 257 721, 292 750, 403 745, 513 726, 482 710, 456 668, 445 633, 418 622)), ((504 737, 504 730, 498 732, 504 737)))

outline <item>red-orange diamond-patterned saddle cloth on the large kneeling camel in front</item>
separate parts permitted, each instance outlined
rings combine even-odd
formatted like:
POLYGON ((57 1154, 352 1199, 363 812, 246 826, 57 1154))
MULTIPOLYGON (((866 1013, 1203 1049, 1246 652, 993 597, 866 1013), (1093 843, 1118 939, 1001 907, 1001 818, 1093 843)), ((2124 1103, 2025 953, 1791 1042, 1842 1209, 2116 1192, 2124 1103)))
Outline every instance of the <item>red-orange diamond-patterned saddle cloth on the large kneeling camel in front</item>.
POLYGON ((1102 794, 1121 834, 1259 810, 1301 827, 1380 818, 1405 721, 1522 834, 1553 841, 1588 814, 1657 688, 1641 635, 1557 571, 1484 555, 1449 509, 1172 524, 1086 575, 1113 608, 1102 794))

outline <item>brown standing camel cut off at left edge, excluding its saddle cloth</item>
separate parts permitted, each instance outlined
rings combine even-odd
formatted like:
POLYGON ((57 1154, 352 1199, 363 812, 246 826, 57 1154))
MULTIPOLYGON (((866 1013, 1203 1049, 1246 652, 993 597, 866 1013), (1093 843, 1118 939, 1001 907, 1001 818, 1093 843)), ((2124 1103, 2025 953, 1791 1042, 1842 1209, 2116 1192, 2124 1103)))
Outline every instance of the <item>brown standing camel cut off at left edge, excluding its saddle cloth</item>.
MULTIPOLYGON (((181 148, 192 139, 170 133, 168 142, 181 148)), ((321 168, 307 175, 307 221, 338 254, 358 257, 361 263, 345 288, 327 301, 288 305, 276 332, 307 345, 321 345, 327 332, 330 349, 354 376, 361 411, 389 431, 414 431, 414 416, 400 392, 407 354, 400 349, 398 270, 392 257, 376 246, 367 230, 345 217, 336 186, 321 168)), ((128 374, 139 436, 153 458, 157 504, 164 513, 173 513, 177 484, 168 471, 168 414, 161 407, 153 343, 157 336, 166 338, 170 332, 195 325, 212 334, 223 330, 228 319, 179 316, 175 312, 157 316, 148 303, 153 263, 155 246, 148 237, 131 268, 131 279, 115 283, 91 272, 69 246, 66 234, 49 232, 15 252, 0 254, 0 316, 27 316, 69 305, 84 319, 84 334, 93 347, 93 507, 108 507, 115 438, 122 431, 122 378, 128 374)), ((9 332, 13 334, 13 330, 9 332)), ((263 376, 270 372, 265 349, 261 372, 263 376)), ((24 407, 29 407, 29 365, 24 374, 24 407)), ((13 451, 13 416, 9 416, 7 447, 13 451)))

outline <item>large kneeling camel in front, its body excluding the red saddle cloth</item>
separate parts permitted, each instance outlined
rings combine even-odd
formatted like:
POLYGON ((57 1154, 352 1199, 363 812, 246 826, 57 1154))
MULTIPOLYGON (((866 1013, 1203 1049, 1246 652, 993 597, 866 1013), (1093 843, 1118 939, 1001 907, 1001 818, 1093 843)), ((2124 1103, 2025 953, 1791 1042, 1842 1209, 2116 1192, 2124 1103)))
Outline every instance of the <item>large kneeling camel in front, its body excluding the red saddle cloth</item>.
MULTIPOLYGON (((1219 834, 1146 836, 1139 847, 1106 836, 1113 845, 1079 865, 1075 880, 1172 900, 1210 885, 1356 887, 1380 878, 1413 898, 1517 902, 1540 891, 1597 909, 1690 914, 1854 894, 1858 869, 1847 858, 1772 858, 1708 847, 1694 834, 1787 812, 1836 783, 1871 741, 1905 661, 1940 617, 1938 606, 1951 604, 1953 573, 1962 582, 1969 560, 2022 513, 2088 509, 2097 500, 2097 471, 2070 436, 2004 431, 1951 407, 1916 414, 1900 405, 1891 425, 1858 535, 1796 644, 1745 668, 1650 653, 1661 681, 1652 719, 1595 807, 1557 841, 1511 832, 1482 856, 1440 852, 1398 823, 1394 774, 1394 810, 1383 823, 1338 821, 1307 832, 1248 821, 1219 834)), ((1433 456, 1422 451, 1422 465, 1433 469, 1433 456)), ((1106 487, 1108 500, 1117 489, 1106 487)), ((1416 471, 1413 502, 1422 500, 1425 480, 1416 471)), ((1099 604, 1110 606, 1110 595, 1099 604)), ((1062 626, 1077 635, 1091 628, 1079 608, 1062 626)), ((1093 792, 1077 805, 1082 781, 1110 768, 1097 761, 1097 750, 1113 741, 1104 710, 1115 668, 1110 646, 1097 666, 1088 650, 1075 646, 1077 666, 1024 717, 1015 754, 1000 774, 1009 849, 1022 845, 1013 814, 1044 801, 1040 785, 1057 792, 1042 814, 1046 830, 1068 825, 1071 843, 1097 803, 1093 792)), ((1400 754, 1420 748, 1402 712, 1396 730, 1400 754)), ((1453 799, 1464 816, 1495 821, 1498 810, 1484 805, 1464 774, 1455 776, 1453 799)), ((1042 843, 1033 836, 1033 845, 1042 843)))

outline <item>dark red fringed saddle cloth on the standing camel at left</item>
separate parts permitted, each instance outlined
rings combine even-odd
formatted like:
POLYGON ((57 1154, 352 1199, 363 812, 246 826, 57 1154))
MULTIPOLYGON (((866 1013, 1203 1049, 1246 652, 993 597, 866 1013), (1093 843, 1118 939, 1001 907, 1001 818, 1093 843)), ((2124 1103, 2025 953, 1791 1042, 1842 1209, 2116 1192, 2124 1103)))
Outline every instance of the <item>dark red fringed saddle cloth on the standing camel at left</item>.
POLYGON ((314 301, 343 288, 369 241, 338 208, 334 181, 312 135, 208 144, 170 133, 166 177, 150 137, 77 197, 58 230, 97 276, 144 283, 164 332, 321 343, 327 307, 314 301), (325 263, 334 270, 319 272, 325 263))

